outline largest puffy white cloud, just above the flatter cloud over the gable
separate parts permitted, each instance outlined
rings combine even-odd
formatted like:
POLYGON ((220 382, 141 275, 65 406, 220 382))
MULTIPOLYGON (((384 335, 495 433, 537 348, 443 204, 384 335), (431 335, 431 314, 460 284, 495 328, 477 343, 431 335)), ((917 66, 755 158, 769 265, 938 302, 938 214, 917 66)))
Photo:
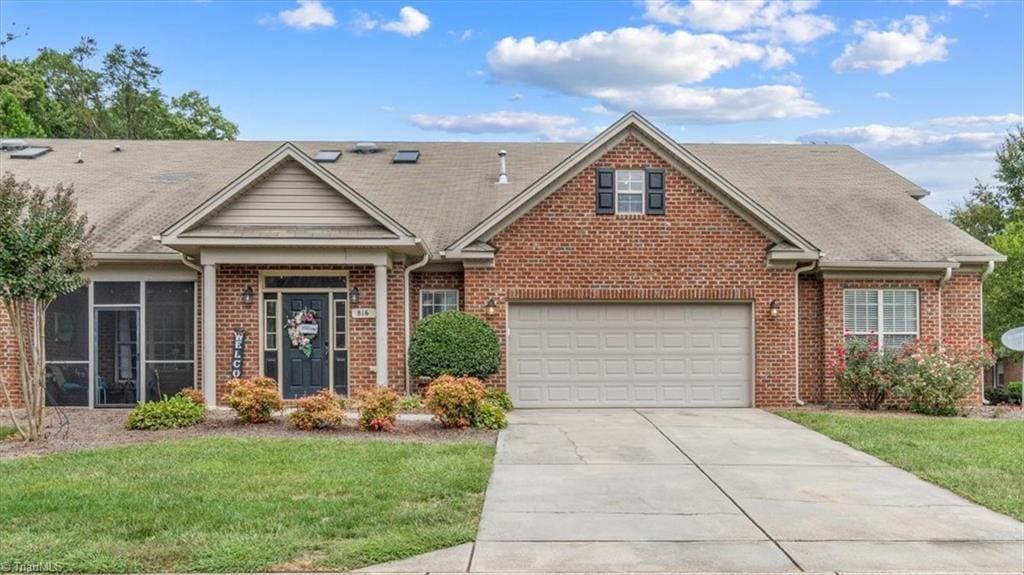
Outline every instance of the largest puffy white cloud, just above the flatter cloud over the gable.
POLYGON ((565 42, 508 37, 487 53, 487 63, 499 80, 580 93, 614 85, 700 82, 765 57, 761 46, 725 36, 646 27, 591 32, 565 42))

